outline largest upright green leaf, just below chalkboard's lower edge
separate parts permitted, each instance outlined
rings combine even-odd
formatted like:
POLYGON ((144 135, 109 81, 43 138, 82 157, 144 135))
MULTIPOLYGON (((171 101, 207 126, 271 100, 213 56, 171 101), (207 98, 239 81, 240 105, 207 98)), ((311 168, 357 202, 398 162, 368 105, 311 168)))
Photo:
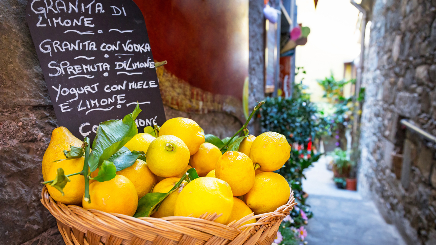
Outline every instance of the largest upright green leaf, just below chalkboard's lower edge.
POLYGON ((91 172, 100 167, 104 160, 108 160, 138 133, 135 119, 140 112, 141 109, 136 104, 135 110, 123 120, 109 120, 100 123, 92 143, 92 152, 89 154, 91 172))

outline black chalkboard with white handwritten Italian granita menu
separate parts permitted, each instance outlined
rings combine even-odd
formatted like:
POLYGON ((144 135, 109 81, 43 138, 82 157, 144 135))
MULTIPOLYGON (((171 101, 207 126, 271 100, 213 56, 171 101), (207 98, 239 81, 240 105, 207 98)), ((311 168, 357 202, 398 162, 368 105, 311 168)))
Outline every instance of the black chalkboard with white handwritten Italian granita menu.
POLYGON ((136 102, 145 126, 165 122, 144 17, 132 0, 29 0, 27 24, 58 118, 79 139, 136 102))

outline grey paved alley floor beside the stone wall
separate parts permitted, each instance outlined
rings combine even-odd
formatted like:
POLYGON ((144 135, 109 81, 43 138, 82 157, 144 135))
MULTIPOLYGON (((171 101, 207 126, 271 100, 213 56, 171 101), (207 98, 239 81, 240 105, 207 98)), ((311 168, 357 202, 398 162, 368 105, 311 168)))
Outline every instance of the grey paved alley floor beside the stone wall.
POLYGON ((375 204, 356 191, 339 190, 323 157, 306 170, 303 190, 313 211, 308 245, 405 245, 394 225, 381 217, 375 204))

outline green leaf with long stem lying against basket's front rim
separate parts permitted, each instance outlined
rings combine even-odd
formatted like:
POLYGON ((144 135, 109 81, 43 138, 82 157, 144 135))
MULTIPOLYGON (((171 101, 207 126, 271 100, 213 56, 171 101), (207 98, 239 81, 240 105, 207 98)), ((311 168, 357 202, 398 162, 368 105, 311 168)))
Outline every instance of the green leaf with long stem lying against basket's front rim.
POLYGON ((138 208, 136 209, 136 212, 133 215, 133 217, 135 218, 150 217, 151 214, 157 211, 157 209, 160 206, 160 203, 164 201, 167 196, 169 196, 171 193, 173 193, 180 187, 180 185, 182 184, 183 180, 186 179, 186 177, 187 175, 185 174, 167 193, 151 192, 141 197, 141 199, 138 201, 138 208))

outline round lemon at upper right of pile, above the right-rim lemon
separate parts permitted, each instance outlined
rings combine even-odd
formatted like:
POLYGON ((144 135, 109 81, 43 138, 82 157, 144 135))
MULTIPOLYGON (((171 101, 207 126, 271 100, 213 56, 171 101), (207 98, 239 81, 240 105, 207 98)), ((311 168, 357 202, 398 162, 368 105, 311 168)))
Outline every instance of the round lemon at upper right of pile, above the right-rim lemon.
POLYGON ((259 163, 260 170, 279 170, 291 155, 291 146, 283 134, 266 132, 257 136, 250 149, 253 163, 259 163))

